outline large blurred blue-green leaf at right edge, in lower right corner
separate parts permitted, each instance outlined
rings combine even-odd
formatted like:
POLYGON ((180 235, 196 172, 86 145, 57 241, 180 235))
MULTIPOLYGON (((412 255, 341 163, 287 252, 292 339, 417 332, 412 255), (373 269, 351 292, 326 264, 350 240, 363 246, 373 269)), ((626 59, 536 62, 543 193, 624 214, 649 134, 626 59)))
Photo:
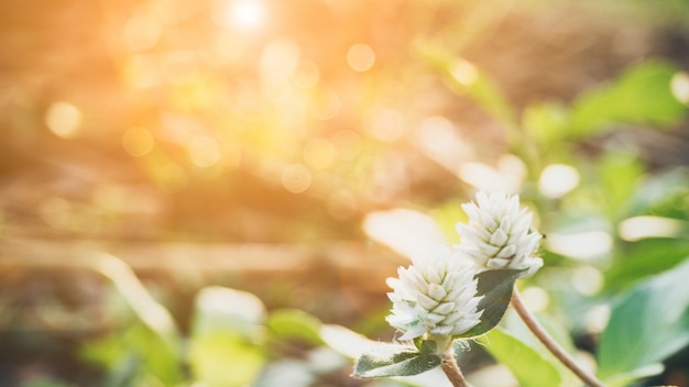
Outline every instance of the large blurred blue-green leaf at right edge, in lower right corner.
POLYGON ((599 374, 611 386, 626 385, 630 375, 689 344, 687 278, 689 259, 639 284, 615 302, 598 352, 599 374))

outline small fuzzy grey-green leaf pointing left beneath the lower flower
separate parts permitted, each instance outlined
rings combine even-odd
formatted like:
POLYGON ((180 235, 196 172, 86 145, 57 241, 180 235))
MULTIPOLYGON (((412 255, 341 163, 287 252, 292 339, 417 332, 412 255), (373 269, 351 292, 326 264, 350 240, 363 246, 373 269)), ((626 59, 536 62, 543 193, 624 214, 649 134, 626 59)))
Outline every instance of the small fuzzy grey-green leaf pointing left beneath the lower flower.
POLYGON ((354 364, 354 375, 363 378, 412 376, 436 368, 437 354, 420 353, 408 346, 386 344, 363 353, 354 364))

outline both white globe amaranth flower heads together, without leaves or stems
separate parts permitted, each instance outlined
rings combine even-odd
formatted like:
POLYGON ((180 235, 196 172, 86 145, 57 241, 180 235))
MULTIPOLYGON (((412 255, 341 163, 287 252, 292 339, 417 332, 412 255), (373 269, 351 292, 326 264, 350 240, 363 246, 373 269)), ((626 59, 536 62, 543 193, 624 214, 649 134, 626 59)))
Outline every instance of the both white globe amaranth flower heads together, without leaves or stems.
POLYGON ((393 308, 386 320, 404 333, 400 340, 469 331, 483 313, 475 274, 511 268, 527 276, 543 266, 534 256, 542 235, 531 231, 532 213, 520 209, 518 196, 479 192, 477 203, 462 208, 469 223, 457 225, 459 246, 430 251, 390 279, 393 308))

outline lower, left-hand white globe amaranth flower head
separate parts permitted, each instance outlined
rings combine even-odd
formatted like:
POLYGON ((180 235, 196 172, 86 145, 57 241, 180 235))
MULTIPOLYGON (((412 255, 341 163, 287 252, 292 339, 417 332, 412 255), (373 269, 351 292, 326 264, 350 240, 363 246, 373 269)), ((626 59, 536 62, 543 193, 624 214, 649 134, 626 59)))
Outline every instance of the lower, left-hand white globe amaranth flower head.
POLYGON ((389 280, 394 291, 387 294, 393 307, 386 320, 404 332, 400 340, 458 335, 480 322, 475 268, 449 247, 440 246, 397 273, 398 279, 389 280))

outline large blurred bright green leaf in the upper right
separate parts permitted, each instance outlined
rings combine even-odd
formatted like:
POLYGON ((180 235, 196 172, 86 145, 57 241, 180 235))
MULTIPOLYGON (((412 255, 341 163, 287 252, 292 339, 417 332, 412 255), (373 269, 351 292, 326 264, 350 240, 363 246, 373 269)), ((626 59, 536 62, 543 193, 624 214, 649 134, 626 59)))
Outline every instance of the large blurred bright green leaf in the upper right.
POLYGON ((612 85, 581 96, 573 104, 571 130, 588 135, 615 123, 671 126, 678 124, 687 109, 670 90, 677 68, 664 62, 644 62, 625 73, 612 85))

